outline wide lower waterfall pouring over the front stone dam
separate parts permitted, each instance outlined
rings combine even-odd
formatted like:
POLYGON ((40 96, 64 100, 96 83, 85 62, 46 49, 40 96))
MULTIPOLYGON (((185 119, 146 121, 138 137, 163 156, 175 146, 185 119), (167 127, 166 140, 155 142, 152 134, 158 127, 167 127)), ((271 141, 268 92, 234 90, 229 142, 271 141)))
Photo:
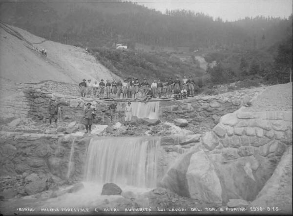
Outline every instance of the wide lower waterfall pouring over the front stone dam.
POLYGON ((155 187, 159 145, 157 137, 93 138, 87 149, 85 180, 155 187))

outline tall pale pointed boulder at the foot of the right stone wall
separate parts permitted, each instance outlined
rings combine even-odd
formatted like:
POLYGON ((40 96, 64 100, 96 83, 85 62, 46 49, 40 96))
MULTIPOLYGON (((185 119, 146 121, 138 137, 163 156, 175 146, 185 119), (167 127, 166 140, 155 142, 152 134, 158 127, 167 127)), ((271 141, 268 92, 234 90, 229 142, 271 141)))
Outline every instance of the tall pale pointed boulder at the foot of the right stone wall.
POLYGON ((222 188, 213 164, 201 150, 190 157, 186 173, 191 198, 206 203, 222 204, 222 188))

